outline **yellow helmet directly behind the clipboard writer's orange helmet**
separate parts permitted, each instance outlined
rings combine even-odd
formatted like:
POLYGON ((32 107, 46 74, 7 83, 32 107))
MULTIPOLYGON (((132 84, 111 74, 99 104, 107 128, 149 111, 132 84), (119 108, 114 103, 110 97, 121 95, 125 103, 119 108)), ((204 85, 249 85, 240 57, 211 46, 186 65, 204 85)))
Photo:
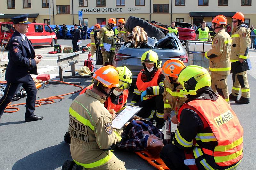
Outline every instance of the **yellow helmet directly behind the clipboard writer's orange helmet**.
POLYGON ((132 72, 126 67, 116 67, 119 76, 119 89, 127 90, 132 84, 132 72))

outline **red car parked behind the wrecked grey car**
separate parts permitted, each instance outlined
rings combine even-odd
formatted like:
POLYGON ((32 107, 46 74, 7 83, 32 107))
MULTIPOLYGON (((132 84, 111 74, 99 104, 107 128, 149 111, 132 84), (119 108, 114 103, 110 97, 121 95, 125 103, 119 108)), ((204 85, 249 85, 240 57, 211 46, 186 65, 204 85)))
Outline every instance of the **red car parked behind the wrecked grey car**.
POLYGON ((195 30, 193 29, 193 27, 190 23, 175 22, 175 27, 178 28, 180 40, 186 42, 186 40, 195 40, 196 39, 195 30))

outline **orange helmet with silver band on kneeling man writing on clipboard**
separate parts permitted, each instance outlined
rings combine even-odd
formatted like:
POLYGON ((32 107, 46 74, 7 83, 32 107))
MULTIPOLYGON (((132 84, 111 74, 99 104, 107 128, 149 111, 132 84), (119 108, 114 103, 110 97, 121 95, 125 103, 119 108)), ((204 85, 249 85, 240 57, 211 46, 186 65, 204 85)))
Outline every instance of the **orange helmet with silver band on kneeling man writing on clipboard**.
POLYGON ((95 71, 93 74, 93 82, 99 85, 99 82, 103 84, 103 86, 108 88, 118 87, 119 84, 119 75, 114 66, 103 66, 95 71), (97 81, 95 81, 97 80, 97 81))

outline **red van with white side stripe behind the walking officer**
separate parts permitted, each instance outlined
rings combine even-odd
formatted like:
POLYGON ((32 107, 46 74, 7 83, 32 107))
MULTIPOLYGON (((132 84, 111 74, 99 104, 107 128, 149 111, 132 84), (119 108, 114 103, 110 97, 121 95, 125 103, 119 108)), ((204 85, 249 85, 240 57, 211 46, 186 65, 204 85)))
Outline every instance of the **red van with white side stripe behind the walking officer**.
MULTIPOLYGON (((3 44, 5 45, 8 38, 14 33, 12 25, 13 22, 0 22, 1 44, 3 41, 3 44)), ((28 26, 29 28, 26 36, 33 46, 51 45, 51 47, 53 47, 57 43, 56 34, 49 25, 43 23, 31 23, 28 24, 28 26)))

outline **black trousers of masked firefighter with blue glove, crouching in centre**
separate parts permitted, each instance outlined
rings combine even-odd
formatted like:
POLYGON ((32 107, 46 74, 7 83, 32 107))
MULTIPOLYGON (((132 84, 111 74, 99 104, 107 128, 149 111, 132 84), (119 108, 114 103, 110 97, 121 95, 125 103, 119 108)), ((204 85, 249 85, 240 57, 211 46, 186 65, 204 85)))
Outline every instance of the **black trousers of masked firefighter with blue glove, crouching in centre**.
POLYGON ((151 99, 138 101, 134 106, 142 107, 136 114, 142 118, 153 118, 156 110, 156 124, 164 124, 164 101, 162 95, 157 95, 151 99))

